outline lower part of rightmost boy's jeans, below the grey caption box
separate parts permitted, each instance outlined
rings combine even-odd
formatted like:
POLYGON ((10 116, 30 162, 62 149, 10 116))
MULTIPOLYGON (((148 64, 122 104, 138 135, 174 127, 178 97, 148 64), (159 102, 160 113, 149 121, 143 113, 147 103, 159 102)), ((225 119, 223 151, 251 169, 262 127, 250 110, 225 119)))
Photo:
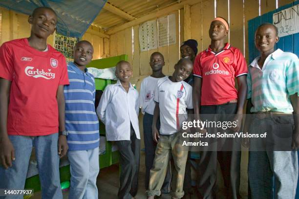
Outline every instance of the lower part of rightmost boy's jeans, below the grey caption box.
POLYGON ((248 179, 252 199, 295 199, 297 151, 249 152, 248 179), (276 189, 273 193, 273 176, 276 189))

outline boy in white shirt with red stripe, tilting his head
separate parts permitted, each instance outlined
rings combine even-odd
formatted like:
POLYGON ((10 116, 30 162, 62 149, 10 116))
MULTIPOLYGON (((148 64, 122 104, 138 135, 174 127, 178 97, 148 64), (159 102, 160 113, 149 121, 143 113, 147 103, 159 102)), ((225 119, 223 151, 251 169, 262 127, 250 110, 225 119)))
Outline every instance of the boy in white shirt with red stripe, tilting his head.
POLYGON ((190 59, 180 59, 174 66, 174 73, 167 79, 160 79, 155 89, 155 109, 152 122, 153 140, 157 142, 153 167, 150 170, 148 199, 160 195, 170 155, 173 158, 174 171, 171 183, 171 197, 184 196, 183 182, 188 148, 183 146, 182 122, 187 120, 187 109, 192 109, 192 87, 184 82, 192 73, 190 59), (161 127, 156 127, 160 115, 161 127), (159 138, 159 140, 158 140, 159 138))

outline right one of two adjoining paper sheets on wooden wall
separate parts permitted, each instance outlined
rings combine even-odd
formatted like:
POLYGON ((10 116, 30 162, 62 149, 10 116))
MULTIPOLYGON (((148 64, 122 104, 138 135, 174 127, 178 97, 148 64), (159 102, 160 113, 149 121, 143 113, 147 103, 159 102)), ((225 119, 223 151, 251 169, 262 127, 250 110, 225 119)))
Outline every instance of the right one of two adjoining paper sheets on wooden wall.
POLYGON ((175 15, 171 14, 158 19, 159 47, 176 44, 175 15))

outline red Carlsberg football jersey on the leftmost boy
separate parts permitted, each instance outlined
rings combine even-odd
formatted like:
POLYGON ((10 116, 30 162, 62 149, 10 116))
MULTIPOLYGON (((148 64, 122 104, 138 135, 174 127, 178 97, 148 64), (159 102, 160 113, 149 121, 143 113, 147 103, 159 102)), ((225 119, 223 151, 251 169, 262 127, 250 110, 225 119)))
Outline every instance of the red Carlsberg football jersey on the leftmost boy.
POLYGON ((2 44, 0 58, 0 77, 11 81, 7 133, 57 133, 56 93, 59 85, 69 84, 64 56, 50 45, 38 51, 24 38, 2 44))

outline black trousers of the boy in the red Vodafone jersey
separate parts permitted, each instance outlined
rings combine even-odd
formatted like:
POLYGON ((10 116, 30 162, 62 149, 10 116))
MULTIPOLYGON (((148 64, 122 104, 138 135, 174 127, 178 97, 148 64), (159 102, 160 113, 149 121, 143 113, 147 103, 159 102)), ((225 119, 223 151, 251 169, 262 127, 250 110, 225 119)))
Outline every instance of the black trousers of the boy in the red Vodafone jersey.
MULTIPOLYGON (((216 117, 217 120, 229 121, 229 116, 233 116, 237 110, 237 103, 226 103, 223 105, 201 106, 202 120, 211 121, 216 117), (230 115, 231 114, 231 115, 230 115), (220 118, 219 118, 220 117, 220 118)), ((209 130, 208 130, 209 132, 209 130)), ((220 142, 222 140, 216 141, 220 142)), ((216 179, 217 179, 217 160, 220 164, 224 185, 227 190, 227 199, 238 199, 240 186, 240 161, 241 151, 240 143, 235 140, 228 140, 234 148, 231 151, 201 151, 198 162, 197 190, 200 199, 216 199, 216 179)), ((215 143, 214 143, 215 144, 215 143)), ((217 147, 217 143, 215 145, 217 147)))

